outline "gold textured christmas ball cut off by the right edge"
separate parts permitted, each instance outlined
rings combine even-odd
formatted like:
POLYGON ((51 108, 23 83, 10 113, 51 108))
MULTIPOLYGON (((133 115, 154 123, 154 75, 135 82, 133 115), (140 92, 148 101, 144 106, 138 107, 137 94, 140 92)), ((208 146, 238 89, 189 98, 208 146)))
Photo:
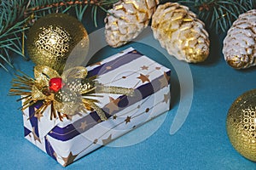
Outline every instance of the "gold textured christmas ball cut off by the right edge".
POLYGON ((256 89, 235 100, 226 126, 234 148, 247 159, 256 161, 256 89))

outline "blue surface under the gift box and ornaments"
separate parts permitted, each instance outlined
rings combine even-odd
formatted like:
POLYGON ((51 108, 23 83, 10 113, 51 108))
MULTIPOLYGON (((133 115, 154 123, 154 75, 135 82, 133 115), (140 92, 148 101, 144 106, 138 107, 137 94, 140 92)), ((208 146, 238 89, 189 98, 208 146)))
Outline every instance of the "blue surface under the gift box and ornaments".
MULTIPOLYGON (((83 23, 89 33, 103 26, 101 17, 98 28, 93 26, 90 16, 86 16, 83 23)), ((24 139, 22 114, 17 110, 20 102, 15 102, 18 97, 8 96, 14 73, 0 69, 0 169, 256 169, 253 161, 233 149, 225 128, 233 101, 256 87, 256 69, 230 68, 221 54, 224 35, 218 37, 211 33, 210 38, 211 55, 207 61, 189 65, 194 81, 193 103, 186 122, 174 135, 169 131, 179 104, 180 84, 172 64, 156 49, 138 42, 122 48, 106 47, 97 53, 90 63, 132 46, 171 68, 172 110, 160 128, 143 142, 121 148, 104 146, 68 167, 61 167, 24 139)), ((14 56, 14 61, 17 70, 32 75, 32 61, 20 56, 14 56)))

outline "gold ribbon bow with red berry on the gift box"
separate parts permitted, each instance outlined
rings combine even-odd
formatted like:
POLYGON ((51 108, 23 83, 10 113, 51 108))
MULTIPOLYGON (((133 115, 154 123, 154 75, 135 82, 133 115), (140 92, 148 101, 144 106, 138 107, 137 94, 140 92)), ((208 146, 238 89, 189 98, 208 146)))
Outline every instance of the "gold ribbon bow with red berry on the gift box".
MULTIPOLYGON (((39 100, 43 105, 35 111, 34 116, 43 115, 45 109, 51 105, 51 119, 58 115, 62 121, 63 115, 74 115, 79 112, 96 111, 102 121, 107 120, 104 112, 96 103, 101 97, 96 93, 132 95, 133 89, 104 86, 96 81, 96 77, 87 78, 87 69, 77 66, 59 73, 49 66, 37 65, 34 68, 34 77, 16 75, 10 95, 21 95, 24 99, 20 108, 22 111, 36 104, 39 100)), ((21 100, 18 99, 18 100, 21 100)))

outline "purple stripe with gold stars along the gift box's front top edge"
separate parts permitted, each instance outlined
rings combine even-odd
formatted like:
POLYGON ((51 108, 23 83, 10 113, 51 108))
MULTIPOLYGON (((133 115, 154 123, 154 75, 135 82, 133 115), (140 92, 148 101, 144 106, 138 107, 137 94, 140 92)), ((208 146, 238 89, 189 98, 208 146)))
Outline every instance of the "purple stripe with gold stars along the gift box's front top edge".
MULTIPOLYGON (((171 71, 166 72, 167 76, 171 75, 171 71)), ((135 95, 133 97, 131 96, 120 96, 119 99, 119 111, 122 111, 122 108, 125 109, 125 107, 129 105, 133 105, 137 103, 141 99, 145 99, 148 96, 158 92, 162 87, 160 80, 164 78, 164 75, 161 77, 158 77, 154 79, 152 82, 148 82, 146 84, 143 84, 142 86, 135 89, 135 95)), ((168 82, 168 84, 170 81, 168 82)), ((108 111, 108 108, 103 107, 103 111, 108 111)), ((114 115, 118 111, 113 111, 114 115)), ((106 113, 106 112, 105 112, 106 113)), ((109 117, 109 115, 107 115, 109 117)), ((97 116, 96 112, 93 111, 90 113, 89 116, 84 116, 83 118, 79 119, 77 122, 73 122, 73 124, 67 125, 67 127, 54 127, 51 132, 49 133, 49 136, 51 136, 54 139, 58 139, 61 141, 67 141, 69 139, 73 139, 74 137, 78 136, 80 133, 84 133, 91 127, 94 127, 98 121, 100 121, 99 116, 97 116), (86 122, 88 125, 84 129, 78 129, 82 122, 86 122), (77 127, 77 128, 76 128, 77 127)))

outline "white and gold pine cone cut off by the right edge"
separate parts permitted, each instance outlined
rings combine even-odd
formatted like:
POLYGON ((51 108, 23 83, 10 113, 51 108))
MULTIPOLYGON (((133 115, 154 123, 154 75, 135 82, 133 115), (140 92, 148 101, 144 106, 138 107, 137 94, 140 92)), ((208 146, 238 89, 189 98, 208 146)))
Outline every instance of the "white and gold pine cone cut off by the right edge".
POLYGON ((235 69, 256 65, 256 9, 239 15, 224 38, 223 53, 235 69))

